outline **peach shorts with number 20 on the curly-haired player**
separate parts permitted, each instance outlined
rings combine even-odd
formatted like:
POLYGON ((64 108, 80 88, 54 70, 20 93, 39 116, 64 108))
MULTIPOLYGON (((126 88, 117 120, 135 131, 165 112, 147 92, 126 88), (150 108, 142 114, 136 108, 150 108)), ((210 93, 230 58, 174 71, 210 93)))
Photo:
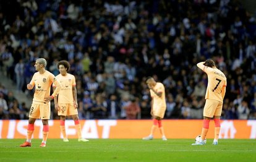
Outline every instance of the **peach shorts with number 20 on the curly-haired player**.
POLYGON ((58 116, 71 116, 77 115, 77 108, 74 107, 74 104, 70 103, 59 103, 58 116))

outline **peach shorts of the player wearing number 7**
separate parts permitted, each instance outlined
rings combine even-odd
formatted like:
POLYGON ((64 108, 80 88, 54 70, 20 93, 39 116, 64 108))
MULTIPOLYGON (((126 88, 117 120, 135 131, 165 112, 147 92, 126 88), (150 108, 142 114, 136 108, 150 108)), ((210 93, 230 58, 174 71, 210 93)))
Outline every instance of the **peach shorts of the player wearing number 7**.
POLYGON ((221 101, 207 99, 205 101, 205 108, 203 108, 203 116, 221 116, 222 106, 223 102, 221 101))

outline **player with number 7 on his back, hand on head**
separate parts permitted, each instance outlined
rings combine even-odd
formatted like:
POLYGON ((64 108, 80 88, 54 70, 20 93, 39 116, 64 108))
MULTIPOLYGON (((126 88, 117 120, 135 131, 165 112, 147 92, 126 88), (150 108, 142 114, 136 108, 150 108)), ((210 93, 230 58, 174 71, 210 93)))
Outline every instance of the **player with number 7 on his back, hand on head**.
POLYGON ((226 93, 227 79, 226 76, 217 69, 215 62, 207 59, 205 62, 199 62, 197 67, 206 72, 208 76, 207 92, 205 94, 205 107, 203 108, 203 128, 199 142, 192 143, 192 145, 204 145, 210 119, 213 117, 215 122, 215 137, 213 145, 218 145, 218 138, 220 134, 220 116, 223 107, 223 99, 226 93))

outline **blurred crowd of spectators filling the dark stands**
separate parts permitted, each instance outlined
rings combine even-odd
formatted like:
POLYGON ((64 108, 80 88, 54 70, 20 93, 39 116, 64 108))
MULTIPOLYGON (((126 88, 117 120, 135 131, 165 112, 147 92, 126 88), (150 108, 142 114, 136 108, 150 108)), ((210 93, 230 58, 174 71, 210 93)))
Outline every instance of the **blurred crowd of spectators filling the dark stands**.
MULTIPOLYGON (((70 62, 80 119, 150 119, 145 80, 166 87, 165 119, 201 119, 211 58, 228 79, 222 119, 256 119, 256 17, 232 0, 0 2, 0 65, 25 90, 35 59, 70 62)), ((29 108, 0 86, 0 119, 29 108)), ((51 119, 57 119, 52 106, 51 119)))

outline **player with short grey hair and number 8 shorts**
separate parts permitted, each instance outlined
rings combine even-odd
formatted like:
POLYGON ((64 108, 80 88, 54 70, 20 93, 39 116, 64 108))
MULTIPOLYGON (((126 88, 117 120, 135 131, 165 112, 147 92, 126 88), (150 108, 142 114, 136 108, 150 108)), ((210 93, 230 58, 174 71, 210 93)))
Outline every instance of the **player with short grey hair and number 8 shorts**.
POLYGON ((53 98, 58 95, 61 90, 61 83, 51 72, 46 70, 45 67, 45 59, 36 59, 35 70, 38 72, 35 72, 32 80, 27 85, 28 90, 32 90, 35 86, 33 102, 28 116, 27 140, 20 145, 20 147, 31 147, 31 139, 36 119, 41 119, 43 122, 43 141, 40 147, 46 147, 46 140, 49 133, 48 119, 50 119, 51 114, 51 103, 49 101, 53 100, 53 98), (56 89, 50 96, 52 83, 56 85, 56 89))

